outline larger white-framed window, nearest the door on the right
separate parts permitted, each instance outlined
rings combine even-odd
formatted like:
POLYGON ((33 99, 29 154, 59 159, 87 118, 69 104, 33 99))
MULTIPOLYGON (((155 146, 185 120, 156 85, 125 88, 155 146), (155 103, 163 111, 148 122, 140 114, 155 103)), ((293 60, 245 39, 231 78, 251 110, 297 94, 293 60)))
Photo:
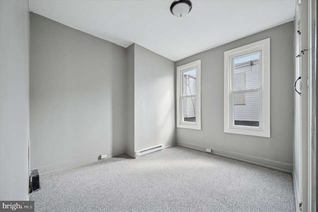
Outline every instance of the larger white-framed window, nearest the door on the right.
POLYGON ((270 39, 224 53, 224 131, 270 137, 270 39))

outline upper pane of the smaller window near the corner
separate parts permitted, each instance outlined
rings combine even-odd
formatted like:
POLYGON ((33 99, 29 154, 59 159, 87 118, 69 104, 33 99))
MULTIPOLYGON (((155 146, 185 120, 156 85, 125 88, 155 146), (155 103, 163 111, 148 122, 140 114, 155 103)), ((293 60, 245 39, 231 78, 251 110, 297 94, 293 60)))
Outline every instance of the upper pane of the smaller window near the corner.
POLYGON ((196 81, 197 72, 196 69, 182 72, 183 79, 183 96, 191 96, 197 94, 196 81))

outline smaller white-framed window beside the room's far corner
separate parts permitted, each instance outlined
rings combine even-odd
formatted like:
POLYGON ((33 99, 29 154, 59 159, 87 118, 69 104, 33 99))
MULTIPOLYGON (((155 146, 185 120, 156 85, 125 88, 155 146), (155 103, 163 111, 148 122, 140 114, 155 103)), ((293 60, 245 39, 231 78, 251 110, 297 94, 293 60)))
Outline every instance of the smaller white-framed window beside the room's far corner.
POLYGON ((201 129, 201 60, 177 67, 177 127, 201 129))

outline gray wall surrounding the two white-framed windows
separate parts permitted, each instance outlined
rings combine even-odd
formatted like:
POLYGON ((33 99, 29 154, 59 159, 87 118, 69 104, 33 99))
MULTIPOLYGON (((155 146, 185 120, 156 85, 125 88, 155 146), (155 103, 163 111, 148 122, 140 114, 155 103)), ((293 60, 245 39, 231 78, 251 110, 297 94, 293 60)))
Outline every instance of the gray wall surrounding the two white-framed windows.
POLYGON ((202 130, 177 128, 177 144, 292 172, 293 21, 176 62, 201 59, 202 130), (224 132, 224 52, 271 39, 271 138, 224 132))

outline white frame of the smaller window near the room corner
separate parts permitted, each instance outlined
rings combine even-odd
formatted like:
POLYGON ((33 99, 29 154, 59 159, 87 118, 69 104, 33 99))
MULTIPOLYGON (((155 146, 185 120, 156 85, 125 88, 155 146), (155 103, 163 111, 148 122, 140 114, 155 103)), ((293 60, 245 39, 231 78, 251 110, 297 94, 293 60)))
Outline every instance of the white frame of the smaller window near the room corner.
POLYGON ((177 67, 177 127, 201 130, 201 60, 194 61, 177 67), (183 98, 182 98, 182 73, 196 69, 196 122, 183 121, 183 98))

